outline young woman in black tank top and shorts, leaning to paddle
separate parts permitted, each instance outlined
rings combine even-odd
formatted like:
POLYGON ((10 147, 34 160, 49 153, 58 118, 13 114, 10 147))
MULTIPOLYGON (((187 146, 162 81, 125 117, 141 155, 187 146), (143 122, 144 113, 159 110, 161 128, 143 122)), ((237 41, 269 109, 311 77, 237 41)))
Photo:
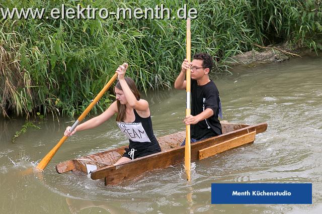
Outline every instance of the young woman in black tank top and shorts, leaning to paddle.
POLYGON ((160 152, 160 146, 153 134, 149 104, 140 99, 140 93, 130 77, 125 77, 127 64, 120 65, 118 82, 114 88, 116 101, 101 115, 78 125, 73 132, 70 127, 65 130, 65 136, 71 136, 77 131, 95 128, 109 120, 117 113, 116 122, 121 131, 129 138, 129 148, 125 149, 123 157, 115 164, 160 152), (124 66, 125 65, 125 66, 124 66))

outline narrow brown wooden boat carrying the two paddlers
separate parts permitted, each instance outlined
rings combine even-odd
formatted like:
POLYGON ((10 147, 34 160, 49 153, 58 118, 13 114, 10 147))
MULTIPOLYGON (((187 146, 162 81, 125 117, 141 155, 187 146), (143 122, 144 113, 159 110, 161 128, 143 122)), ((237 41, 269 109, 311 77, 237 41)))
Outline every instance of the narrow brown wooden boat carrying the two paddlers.
MULTIPOLYGON (((191 161, 201 160, 220 152, 255 141, 255 135, 267 129, 267 123, 249 126, 221 122, 222 135, 191 144, 191 161)), ((137 178, 144 172, 166 168, 184 161, 185 147, 180 146, 185 138, 185 131, 159 137, 162 152, 137 158, 119 165, 113 165, 127 146, 89 155, 56 165, 58 173, 81 171, 88 173, 88 166, 94 165, 91 178, 104 179, 105 185, 120 184, 125 180, 137 178)))

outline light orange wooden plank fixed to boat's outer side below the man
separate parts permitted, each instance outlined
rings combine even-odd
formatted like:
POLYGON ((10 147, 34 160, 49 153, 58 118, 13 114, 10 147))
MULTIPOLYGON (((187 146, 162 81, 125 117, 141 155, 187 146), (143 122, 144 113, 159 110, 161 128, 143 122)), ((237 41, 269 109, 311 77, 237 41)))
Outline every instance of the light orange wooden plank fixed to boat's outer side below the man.
POLYGON ((199 150, 199 160, 202 160, 204 158, 213 156, 220 152, 224 152, 226 150, 229 150, 244 144, 252 143, 255 141, 255 136, 256 136, 256 131, 253 131, 251 133, 235 137, 231 140, 224 141, 222 143, 210 146, 208 148, 201 149, 199 150))

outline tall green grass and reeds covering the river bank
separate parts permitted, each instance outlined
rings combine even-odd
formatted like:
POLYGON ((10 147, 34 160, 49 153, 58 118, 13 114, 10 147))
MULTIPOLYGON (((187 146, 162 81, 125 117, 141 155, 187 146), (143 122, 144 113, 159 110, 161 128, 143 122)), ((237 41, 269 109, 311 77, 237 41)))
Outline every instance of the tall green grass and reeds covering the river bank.
MULTIPOLYGON (((1 1, 0 8, 154 8, 173 14, 180 1, 1 1)), ((262 46, 285 43, 322 50, 322 4, 302 0, 192 0, 192 54, 220 59, 262 46)), ((141 90, 171 87, 185 58, 185 20, 4 20, 0 19, 0 110, 2 115, 81 114, 124 61, 141 90)), ((106 109, 110 90, 91 114, 106 109)))

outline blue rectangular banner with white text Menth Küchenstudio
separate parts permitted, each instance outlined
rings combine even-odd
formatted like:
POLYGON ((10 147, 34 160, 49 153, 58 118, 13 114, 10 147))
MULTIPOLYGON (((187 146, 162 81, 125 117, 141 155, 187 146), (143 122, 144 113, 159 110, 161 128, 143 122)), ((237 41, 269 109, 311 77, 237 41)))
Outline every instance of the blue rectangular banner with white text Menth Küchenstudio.
POLYGON ((312 204, 311 183, 212 183, 213 204, 312 204))

